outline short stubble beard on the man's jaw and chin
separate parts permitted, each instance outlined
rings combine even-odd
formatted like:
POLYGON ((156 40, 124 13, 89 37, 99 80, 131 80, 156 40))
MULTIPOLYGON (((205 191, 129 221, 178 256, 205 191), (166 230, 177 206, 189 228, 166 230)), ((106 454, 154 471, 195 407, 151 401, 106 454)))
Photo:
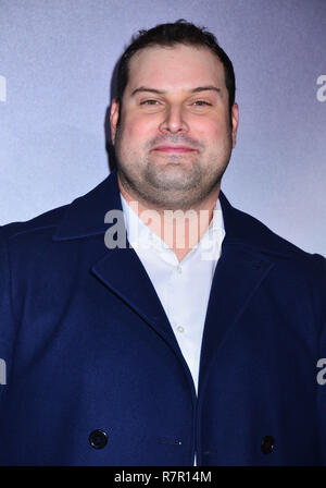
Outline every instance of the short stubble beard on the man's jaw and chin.
POLYGON ((220 187, 230 159, 230 135, 223 155, 209 155, 203 167, 200 154, 192 160, 192 155, 190 158, 168 155, 164 156, 166 162, 153 161, 150 156, 139 162, 138 155, 122 154, 122 132, 118 126, 114 146, 117 173, 124 188, 136 200, 156 209, 188 210, 200 207, 201 202, 220 187))

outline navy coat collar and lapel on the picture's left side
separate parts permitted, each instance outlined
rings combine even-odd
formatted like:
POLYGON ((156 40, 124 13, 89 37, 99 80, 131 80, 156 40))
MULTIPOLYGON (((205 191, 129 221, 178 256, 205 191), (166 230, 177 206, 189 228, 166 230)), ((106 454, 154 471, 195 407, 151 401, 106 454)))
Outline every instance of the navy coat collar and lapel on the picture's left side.
POLYGON ((164 308, 137 253, 128 241, 126 248, 105 247, 104 234, 110 224, 104 222, 104 217, 109 210, 122 211, 115 171, 67 207, 52 239, 66 241, 103 234, 103 254, 92 264, 90 271, 152 327, 186 365, 164 308))

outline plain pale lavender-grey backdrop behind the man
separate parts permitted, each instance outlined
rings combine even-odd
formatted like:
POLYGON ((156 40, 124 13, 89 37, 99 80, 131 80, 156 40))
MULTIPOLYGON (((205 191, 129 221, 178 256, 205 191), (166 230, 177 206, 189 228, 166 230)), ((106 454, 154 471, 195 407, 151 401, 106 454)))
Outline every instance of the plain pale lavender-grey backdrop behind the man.
POLYGON ((240 127, 226 196, 325 255, 325 0, 0 0, 0 223, 108 175, 116 60, 139 28, 180 17, 211 29, 235 65, 240 127))

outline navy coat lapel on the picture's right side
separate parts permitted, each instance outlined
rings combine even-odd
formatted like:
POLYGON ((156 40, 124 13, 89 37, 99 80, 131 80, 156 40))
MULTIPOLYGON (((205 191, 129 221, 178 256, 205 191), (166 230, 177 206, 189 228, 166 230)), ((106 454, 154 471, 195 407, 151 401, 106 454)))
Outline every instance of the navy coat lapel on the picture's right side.
POLYGON ((237 327, 256 289, 275 265, 275 259, 288 257, 280 239, 255 218, 235 209, 220 194, 225 239, 217 261, 203 331, 199 391, 209 378, 214 358, 237 327))

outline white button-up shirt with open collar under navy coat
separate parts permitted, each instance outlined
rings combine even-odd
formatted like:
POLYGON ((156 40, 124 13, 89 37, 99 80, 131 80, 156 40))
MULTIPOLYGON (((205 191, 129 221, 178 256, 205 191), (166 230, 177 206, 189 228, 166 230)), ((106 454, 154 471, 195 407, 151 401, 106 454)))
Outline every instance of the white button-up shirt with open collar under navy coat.
POLYGON ((201 341, 208 302, 225 235, 218 198, 209 229, 181 261, 121 195, 129 244, 163 305, 198 391, 201 341))

